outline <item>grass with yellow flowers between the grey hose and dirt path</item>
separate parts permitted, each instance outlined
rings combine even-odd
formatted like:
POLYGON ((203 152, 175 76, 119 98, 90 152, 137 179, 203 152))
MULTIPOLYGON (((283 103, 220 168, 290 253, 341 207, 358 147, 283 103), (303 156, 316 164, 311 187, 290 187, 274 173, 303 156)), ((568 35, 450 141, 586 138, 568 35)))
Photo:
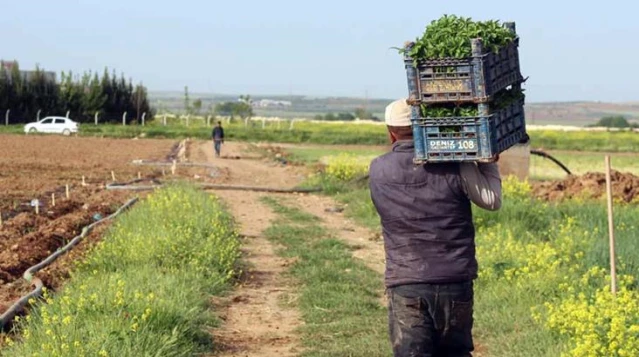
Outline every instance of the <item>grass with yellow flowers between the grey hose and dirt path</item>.
POLYGON ((209 296, 227 287, 238 256, 232 218, 215 198, 190 186, 154 192, 110 227, 61 291, 18 322, 18 340, 2 355, 210 352, 209 296))

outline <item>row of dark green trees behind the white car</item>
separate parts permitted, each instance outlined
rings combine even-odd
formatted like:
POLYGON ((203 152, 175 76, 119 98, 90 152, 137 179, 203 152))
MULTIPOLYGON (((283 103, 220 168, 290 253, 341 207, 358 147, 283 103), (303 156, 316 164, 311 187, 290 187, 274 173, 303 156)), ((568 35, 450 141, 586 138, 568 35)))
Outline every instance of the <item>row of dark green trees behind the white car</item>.
POLYGON ((153 118, 144 86, 133 85, 124 75, 118 78, 115 71, 102 76, 88 72, 82 76, 62 72, 60 81, 51 81, 45 72, 36 68, 29 76, 20 72, 18 65, 11 70, 0 68, 0 115, 10 110, 12 123, 25 123, 48 115, 65 116, 78 122, 92 122, 96 113, 100 122, 127 122, 153 118))

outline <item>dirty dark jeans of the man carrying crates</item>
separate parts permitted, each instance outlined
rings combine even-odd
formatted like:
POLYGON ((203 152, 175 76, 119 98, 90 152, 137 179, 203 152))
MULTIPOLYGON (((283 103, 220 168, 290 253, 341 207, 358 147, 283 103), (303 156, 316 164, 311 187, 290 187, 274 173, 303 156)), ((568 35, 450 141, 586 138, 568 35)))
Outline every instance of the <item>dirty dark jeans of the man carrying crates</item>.
POLYGON ((394 357, 471 357, 473 282, 388 289, 394 357))

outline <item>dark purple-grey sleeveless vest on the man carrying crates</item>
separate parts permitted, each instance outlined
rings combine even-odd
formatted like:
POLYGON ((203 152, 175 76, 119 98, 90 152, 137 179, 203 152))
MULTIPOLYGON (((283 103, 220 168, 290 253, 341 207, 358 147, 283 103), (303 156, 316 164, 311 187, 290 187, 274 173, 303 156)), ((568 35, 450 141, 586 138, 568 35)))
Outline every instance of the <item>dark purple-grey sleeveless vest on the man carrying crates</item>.
POLYGON ((380 215, 387 287, 477 277, 475 229, 459 164, 414 165, 412 141, 372 161, 370 191, 380 215))

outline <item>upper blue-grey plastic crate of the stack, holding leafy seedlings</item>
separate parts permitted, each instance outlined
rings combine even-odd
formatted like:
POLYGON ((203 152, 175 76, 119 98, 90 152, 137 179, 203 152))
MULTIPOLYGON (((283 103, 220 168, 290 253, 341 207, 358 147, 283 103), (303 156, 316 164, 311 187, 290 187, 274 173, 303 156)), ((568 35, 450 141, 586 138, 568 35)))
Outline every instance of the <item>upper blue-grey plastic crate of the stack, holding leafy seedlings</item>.
MULTIPOLYGON (((515 33, 514 23, 504 26, 515 33)), ((408 43, 406 51, 413 45, 408 43)), ((484 51, 480 39, 472 40, 472 47, 470 58, 427 60, 417 66, 406 56, 407 81, 409 88, 414 88, 414 99, 426 104, 484 103, 500 90, 524 81, 519 66, 519 37, 499 53, 484 51)))

